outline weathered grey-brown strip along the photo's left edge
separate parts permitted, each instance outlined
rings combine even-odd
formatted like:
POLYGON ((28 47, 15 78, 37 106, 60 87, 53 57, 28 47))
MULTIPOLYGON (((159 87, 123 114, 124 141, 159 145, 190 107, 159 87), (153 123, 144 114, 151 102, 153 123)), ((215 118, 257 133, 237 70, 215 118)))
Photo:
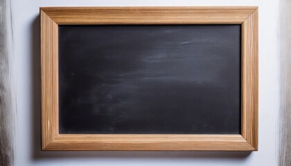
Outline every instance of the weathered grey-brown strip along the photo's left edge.
POLYGON ((0 0, 0 165, 15 165, 15 91, 12 79, 11 1, 0 0))

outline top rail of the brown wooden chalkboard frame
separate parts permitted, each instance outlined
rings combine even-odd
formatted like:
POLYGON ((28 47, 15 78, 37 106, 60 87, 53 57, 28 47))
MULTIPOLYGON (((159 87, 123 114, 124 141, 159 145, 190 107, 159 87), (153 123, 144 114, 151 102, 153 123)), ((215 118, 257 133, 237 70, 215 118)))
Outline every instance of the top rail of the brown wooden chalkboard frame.
POLYGON ((57 24, 241 24, 256 7, 41 8, 57 24))

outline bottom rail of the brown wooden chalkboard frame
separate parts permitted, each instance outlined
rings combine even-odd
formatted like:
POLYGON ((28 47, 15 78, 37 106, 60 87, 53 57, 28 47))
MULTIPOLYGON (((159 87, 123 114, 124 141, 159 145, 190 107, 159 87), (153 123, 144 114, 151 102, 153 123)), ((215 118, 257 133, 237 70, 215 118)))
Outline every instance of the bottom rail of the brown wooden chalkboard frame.
POLYGON ((63 134, 46 150, 252 151, 240 135, 63 134))

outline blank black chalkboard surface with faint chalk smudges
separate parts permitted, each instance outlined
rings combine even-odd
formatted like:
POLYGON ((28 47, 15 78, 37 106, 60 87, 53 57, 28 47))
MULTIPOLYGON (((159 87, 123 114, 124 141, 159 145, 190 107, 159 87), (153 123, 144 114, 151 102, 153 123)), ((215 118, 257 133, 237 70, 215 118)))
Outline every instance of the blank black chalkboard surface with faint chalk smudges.
POLYGON ((240 133, 240 28, 59 26, 60 133, 240 133))

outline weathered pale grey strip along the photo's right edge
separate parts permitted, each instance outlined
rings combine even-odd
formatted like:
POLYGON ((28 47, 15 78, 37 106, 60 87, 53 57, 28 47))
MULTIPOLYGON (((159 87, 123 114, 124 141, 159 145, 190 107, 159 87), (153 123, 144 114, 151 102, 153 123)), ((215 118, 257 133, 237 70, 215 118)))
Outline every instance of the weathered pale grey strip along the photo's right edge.
POLYGON ((280 1, 281 112, 279 165, 291 165, 291 1, 280 1))

